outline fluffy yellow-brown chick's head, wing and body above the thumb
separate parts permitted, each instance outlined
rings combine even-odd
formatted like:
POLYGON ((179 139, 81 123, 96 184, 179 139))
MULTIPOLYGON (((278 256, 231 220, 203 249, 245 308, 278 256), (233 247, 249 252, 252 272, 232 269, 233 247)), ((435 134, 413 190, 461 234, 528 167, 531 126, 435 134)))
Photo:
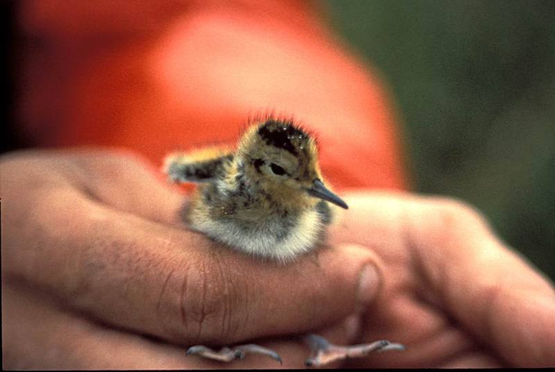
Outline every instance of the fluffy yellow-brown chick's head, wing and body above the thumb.
POLYGON ((252 125, 235 152, 214 148, 167 158, 172 181, 202 183, 187 222, 214 240, 286 263, 310 251, 348 206, 323 183, 316 142, 290 121, 252 125))

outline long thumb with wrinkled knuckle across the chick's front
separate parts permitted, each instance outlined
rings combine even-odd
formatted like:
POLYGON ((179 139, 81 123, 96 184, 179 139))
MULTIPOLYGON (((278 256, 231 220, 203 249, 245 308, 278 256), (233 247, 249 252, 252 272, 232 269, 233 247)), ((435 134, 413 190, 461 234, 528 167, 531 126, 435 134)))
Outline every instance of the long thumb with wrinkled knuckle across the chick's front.
POLYGON ((97 319, 172 342, 224 344, 317 328, 350 315, 379 288, 372 269, 379 263, 360 247, 321 249, 281 266, 107 209, 71 188, 34 203, 27 224, 7 226, 4 271, 97 319))

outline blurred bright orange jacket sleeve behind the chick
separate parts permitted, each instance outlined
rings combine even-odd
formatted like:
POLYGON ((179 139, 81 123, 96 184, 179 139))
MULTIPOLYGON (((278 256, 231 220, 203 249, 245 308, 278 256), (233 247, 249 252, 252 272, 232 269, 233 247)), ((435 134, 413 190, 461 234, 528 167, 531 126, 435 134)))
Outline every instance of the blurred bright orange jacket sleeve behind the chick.
POLYGON ((24 2, 19 119, 37 145, 125 147, 161 164, 273 111, 317 134, 336 188, 402 188, 382 84, 321 13, 296 0, 24 2))

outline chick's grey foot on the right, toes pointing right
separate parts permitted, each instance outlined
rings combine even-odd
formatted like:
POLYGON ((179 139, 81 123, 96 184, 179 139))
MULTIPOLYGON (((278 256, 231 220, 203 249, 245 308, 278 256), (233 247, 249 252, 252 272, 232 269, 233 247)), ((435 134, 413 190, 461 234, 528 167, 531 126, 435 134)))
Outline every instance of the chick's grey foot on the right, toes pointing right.
POLYGON ((305 364, 307 366, 325 366, 336 360, 347 358, 364 357, 375 351, 404 350, 404 345, 388 342, 381 339, 371 344, 360 344, 352 346, 338 346, 331 344, 322 336, 310 334, 305 337, 305 342, 311 348, 311 356, 305 364))

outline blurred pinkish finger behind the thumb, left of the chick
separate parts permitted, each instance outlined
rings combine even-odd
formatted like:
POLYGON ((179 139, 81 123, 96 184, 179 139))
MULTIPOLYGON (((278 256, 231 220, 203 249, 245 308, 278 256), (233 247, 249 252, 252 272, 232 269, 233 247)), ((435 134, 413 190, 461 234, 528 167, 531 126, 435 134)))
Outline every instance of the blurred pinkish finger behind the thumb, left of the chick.
MULTIPOLYGON (((31 152, 33 154, 33 152, 31 152)), ((139 154, 115 150, 66 150, 33 157, 27 164, 33 179, 60 175, 87 197, 113 209, 169 224, 182 224, 185 197, 169 184, 155 164, 139 154)))

